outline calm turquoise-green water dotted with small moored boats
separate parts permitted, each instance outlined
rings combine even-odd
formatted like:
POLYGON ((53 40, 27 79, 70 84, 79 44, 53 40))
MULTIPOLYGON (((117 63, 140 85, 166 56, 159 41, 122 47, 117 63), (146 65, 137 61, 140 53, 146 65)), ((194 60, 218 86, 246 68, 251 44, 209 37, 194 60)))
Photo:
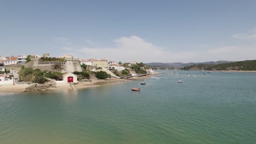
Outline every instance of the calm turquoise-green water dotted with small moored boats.
POLYGON ((146 86, 2 94, 0 143, 256 143, 255 73, 178 72, 146 86))

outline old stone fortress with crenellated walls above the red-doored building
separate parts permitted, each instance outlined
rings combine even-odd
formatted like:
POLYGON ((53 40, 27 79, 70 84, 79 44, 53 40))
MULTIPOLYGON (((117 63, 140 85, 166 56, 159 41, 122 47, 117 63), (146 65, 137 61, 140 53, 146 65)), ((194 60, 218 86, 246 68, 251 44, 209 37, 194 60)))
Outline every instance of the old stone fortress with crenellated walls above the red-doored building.
MULTIPOLYGON (((43 58, 49 58, 49 54, 44 53, 43 58)), ((60 57, 63 61, 42 61, 40 56, 31 56, 31 61, 25 64, 25 68, 40 69, 42 71, 56 71, 60 73, 73 73, 82 71, 79 58, 72 56, 60 57)))

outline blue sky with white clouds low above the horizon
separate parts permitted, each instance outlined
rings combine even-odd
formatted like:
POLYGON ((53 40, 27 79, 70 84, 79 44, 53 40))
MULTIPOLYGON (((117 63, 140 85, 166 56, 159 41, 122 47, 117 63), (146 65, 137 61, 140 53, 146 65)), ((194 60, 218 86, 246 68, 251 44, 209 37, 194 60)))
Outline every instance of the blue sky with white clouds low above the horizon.
POLYGON ((0 50, 113 61, 256 59, 256 1, 1 0, 0 50))

